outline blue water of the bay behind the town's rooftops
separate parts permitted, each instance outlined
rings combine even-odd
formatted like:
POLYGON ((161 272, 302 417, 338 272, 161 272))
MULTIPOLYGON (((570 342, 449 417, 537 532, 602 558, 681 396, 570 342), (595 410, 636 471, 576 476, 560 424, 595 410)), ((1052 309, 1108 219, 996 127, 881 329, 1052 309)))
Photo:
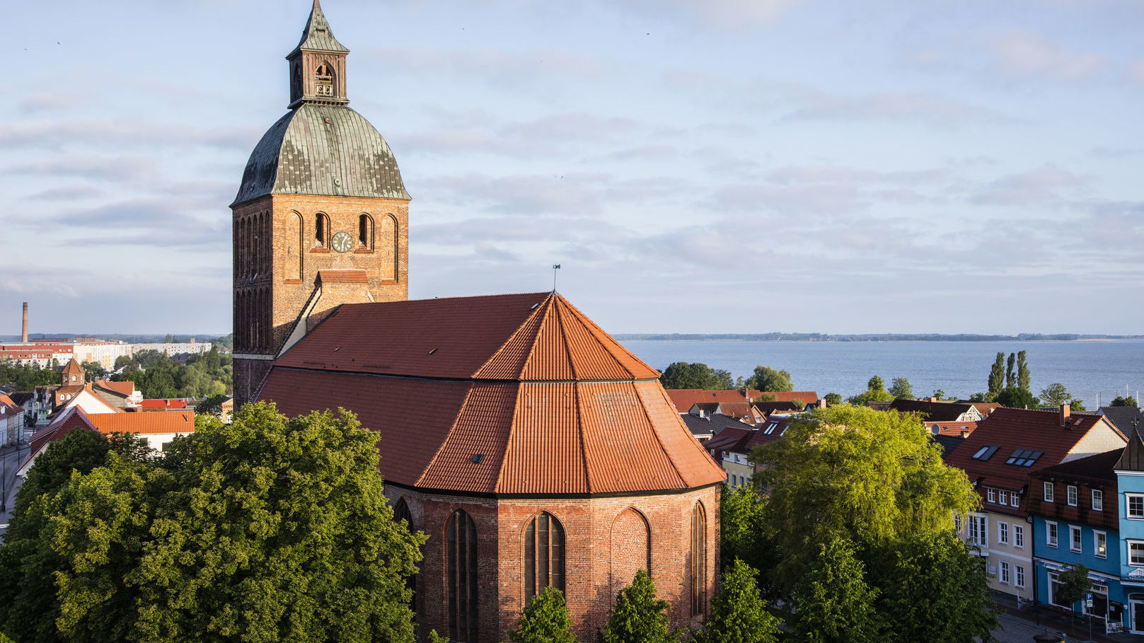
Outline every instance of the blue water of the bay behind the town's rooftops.
POLYGON ((1144 340, 990 342, 809 342, 628 340, 623 346, 651 366, 701 362, 748 376, 763 364, 791 373, 795 390, 843 397, 866 389, 871 375, 885 384, 907 378, 919 397, 935 389, 968 397, 986 390, 998 351, 1027 351, 1033 395, 1060 382, 1089 408, 1144 390, 1144 340))

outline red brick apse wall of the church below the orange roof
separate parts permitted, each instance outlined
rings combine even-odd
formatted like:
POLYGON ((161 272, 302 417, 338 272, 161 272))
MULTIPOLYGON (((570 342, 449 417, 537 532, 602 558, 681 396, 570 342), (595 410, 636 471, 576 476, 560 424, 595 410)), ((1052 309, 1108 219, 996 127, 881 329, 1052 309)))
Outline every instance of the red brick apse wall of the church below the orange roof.
MULTIPOLYGON (((524 533, 541 511, 565 534, 565 597, 577 640, 590 643, 607 621, 615 594, 650 558, 659 596, 672 604, 672 627, 697 626, 690 602, 691 515, 704 507, 706 604, 715 590, 718 555, 718 487, 685 493, 612 498, 496 499, 431 493, 387 485, 396 505, 405 499, 413 527, 429 535, 418 580, 420 634, 448 634, 444 534, 448 517, 463 509, 477 527, 479 642, 507 640, 524 608, 524 533), (651 551, 649 556, 648 546, 651 551), (626 577, 626 578, 625 578, 626 577)), ((706 611, 706 609, 705 609, 706 611)))

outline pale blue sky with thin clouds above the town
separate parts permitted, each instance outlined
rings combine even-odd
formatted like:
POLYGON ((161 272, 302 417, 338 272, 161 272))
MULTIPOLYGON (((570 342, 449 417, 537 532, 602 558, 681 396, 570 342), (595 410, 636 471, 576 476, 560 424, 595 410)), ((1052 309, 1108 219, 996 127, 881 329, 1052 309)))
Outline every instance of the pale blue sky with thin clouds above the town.
MULTIPOLYGON (((326 0, 412 297, 613 333, 1144 333, 1144 2, 326 0)), ((19 2, 0 334, 222 334, 309 0, 19 2)), ((15 26, 15 29, 13 29, 15 26)))

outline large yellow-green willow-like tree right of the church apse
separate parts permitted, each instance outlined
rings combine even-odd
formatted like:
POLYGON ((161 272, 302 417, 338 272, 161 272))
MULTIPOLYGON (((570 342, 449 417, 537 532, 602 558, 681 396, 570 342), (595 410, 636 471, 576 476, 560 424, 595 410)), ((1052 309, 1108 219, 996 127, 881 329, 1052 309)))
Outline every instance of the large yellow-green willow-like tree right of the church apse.
POLYGON ((856 545, 950 530, 977 506, 960 469, 942 461, 920 420, 860 406, 816 408, 793 419, 785 439, 752 454, 769 490, 764 530, 782 553, 774 570, 789 590, 834 539, 856 545))

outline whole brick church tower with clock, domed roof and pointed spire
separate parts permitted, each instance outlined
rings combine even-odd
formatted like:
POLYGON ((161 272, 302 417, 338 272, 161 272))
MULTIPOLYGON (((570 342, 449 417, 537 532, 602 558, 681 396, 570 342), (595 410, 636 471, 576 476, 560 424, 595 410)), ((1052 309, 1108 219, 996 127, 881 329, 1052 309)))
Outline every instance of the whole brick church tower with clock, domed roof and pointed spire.
POLYGON ((230 206, 237 405, 339 304, 408 299, 410 195, 386 140, 347 106, 348 54, 315 0, 286 56, 289 112, 230 206))

